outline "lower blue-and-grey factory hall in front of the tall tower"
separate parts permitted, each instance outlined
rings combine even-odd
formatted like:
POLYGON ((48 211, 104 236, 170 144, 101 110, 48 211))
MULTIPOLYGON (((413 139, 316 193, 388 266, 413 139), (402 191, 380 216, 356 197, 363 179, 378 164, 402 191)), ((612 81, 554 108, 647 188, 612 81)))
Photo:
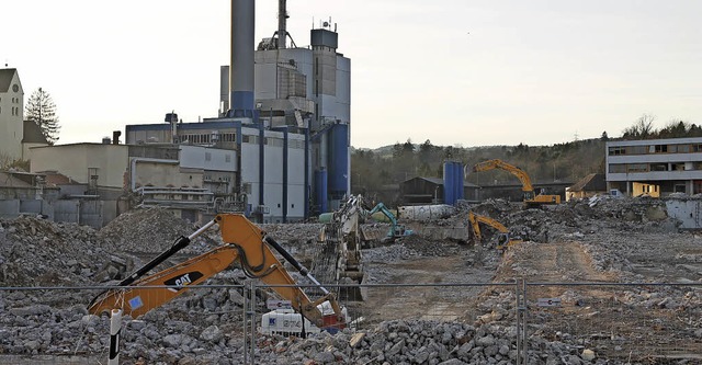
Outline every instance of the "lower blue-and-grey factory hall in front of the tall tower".
MULTIPOLYGON (((168 118, 173 115, 169 114, 168 118)), ((216 118, 202 123, 127 125, 128 145, 171 142, 181 149, 180 167, 205 169, 202 185, 215 193, 214 205, 236 207, 260 223, 303 220, 309 180, 305 174, 308 136, 287 127, 267 127, 250 118, 216 118), (206 147, 205 149, 193 149, 206 147), (193 155, 197 151, 199 155, 193 155), (230 153, 215 153, 228 151, 230 153), (202 155, 202 156, 200 156, 202 155), (188 159, 188 160, 185 160, 188 159), (215 167, 216 166, 216 167, 215 167)), ((178 185, 171 195, 180 195, 178 185)))

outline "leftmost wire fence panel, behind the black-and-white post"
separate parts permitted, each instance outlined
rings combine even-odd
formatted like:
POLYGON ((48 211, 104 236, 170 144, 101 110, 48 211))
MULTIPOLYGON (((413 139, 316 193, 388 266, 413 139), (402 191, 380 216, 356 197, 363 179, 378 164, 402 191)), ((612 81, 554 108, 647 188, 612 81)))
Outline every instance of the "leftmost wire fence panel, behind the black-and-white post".
MULTIPOLYGON (((87 309, 103 288, 0 288, 0 364, 107 364, 110 316, 87 309)), ((138 319, 125 312, 120 364, 245 364, 246 295, 241 285, 193 286, 138 319)))

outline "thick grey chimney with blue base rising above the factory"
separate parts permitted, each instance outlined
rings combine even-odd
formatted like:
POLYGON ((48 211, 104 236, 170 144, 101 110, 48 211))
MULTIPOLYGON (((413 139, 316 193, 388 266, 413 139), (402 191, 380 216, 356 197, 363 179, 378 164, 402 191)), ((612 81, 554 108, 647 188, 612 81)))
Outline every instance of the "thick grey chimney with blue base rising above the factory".
POLYGON ((254 0, 231 0, 229 116, 253 117, 253 4, 254 0))

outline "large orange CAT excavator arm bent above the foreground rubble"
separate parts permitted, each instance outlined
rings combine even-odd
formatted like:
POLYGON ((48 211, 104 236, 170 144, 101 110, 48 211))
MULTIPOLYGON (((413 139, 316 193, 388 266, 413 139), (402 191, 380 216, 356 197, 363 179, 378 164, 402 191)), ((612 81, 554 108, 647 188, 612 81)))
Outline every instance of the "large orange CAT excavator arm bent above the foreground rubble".
POLYGON ((317 328, 336 331, 346 327, 344 313, 335 295, 319 284, 309 271, 273 238, 240 214, 217 215, 189 237, 180 237, 171 248, 120 282, 115 288, 98 295, 89 305, 89 311, 100 315, 110 312, 112 309, 122 309, 125 316, 137 318, 183 294, 189 286, 203 283, 235 261, 238 261, 248 276, 257 277, 271 285, 271 288, 281 297, 291 301, 294 310, 317 328), (219 226, 224 246, 176 266, 144 276, 215 225, 219 226), (313 301, 305 292, 295 286, 295 281, 273 254, 271 248, 303 276, 309 278, 324 296, 313 301), (328 311, 320 309, 329 307, 333 313, 327 313, 328 311))

